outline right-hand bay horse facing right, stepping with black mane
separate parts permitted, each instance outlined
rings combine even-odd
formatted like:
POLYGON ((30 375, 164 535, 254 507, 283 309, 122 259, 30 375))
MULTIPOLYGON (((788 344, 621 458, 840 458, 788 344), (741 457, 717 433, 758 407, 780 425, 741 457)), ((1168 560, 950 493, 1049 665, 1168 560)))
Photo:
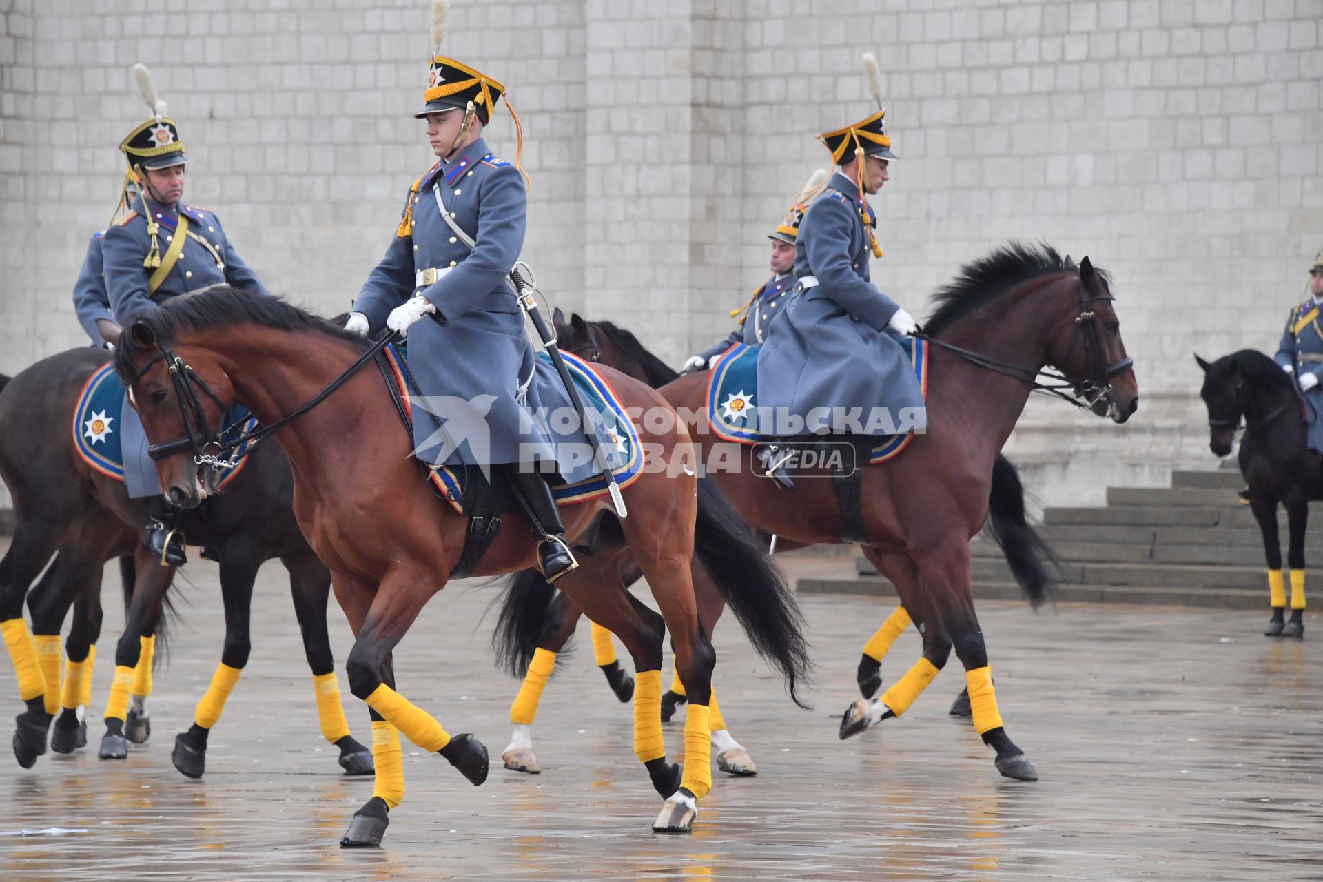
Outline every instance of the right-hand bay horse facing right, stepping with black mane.
MULTIPOLYGON (((1077 266, 1050 246, 1011 243, 964 266, 934 300, 923 335, 931 353, 927 432, 916 435, 901 456, 864 468, 860 491, 861 550, 896 586, 904 608, 918 623, 923 655, 881 698, 851 705, 841 718, 840 737, 905 713, 954 648, 966 669, 975 731, 996 752, 998 771, 1036 780, 1037 772, 1007 735, 996 707, 974 612, 968 541, 983 528, 990 506, 996 516, 999 499, 1004 500, 1007 522, 1023 529, 1023 489, 1013 468, 1007 471, 999 463, 1009 465, 1000 459, 1000 450, 1031 390, 1041 389, 1123 423, 1138 409, 1138 381, 1121 337, 1110 279, 1088 258, 1077 266), (1050 385, 1039 383, 1036 378, 1048 365, 1060 376, 1050 385), (1073 389, 1076 395, 1062 389, 1073 389)), ((738 512, 762 533, 777 536, 778 547, 786 541, 845 541, 830 480, 803 481, 798 492, 787 495, 762 477, 753 448, 745 446, 738 451, 738 467, 730 465, 729 444, 706 428, 706 374, 693 374, 659 391, 680 413, 696 415, 691 430, 703 463, 726 463, 706 475, 738 512)), ((824 469, 816 473, 827 477, 824 469)), ((1023 533, 1019 540, 1020 549, 1039 547, 1023 533)), ((1024 565, 1027 573, 1041 573, 1039 561, 1024 565)), ((1044 602, 1049 579, 1020 583, 1035 607, 1044 602)))

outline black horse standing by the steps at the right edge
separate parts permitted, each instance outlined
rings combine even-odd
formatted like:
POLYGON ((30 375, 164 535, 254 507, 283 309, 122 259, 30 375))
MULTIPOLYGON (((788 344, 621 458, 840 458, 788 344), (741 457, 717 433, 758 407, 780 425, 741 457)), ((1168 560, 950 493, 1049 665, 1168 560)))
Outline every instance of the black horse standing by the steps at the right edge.
POLYGON ((1236 430, 1241 435, 1241 473, 1249 484, 1249 506, 1263 534, 1267 558, 1269 603, 1273 608, 1269 637, 1304 635, 1304 534, 1310 501, 1323 499, 1323 464, 1306 446, 1307 403, 1295 378, 1254 349, 1241 349, 1208 364, 1199 394, 1208 407, 1209 442, 1216 456, 1229 456, 1236 430), (1291 619, 1286 621, 1286 582, 1282 578, 1282 545, 1277 532, 1277 508, 1286 508, 1291 571, 1291 619))

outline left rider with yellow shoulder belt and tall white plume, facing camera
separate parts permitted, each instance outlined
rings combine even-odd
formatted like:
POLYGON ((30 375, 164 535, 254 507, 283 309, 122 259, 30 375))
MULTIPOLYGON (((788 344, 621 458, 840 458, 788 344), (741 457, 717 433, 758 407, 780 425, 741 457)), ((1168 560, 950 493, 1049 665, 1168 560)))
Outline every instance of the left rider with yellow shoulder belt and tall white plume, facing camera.
MULTIPOLYGON (((142 192, 130 202, 132 210, 112 223, 102 239, 114 320, 128 327, 160 303, 213 284, 267 294, 225 238, 220 218, 181 201, 184 144, 179 128, 165 115, 165 102, 157 100, 147 67, 134 65, 134 77, 152 116, 119 144, 142 192)), ((185 563, 180 510, 160 496, 156 465, 147 458, 147 435, 138 411, 126 399, 120 414, 128 496, 155 497, 146 529, 147 546, 161 566, 185 563)))

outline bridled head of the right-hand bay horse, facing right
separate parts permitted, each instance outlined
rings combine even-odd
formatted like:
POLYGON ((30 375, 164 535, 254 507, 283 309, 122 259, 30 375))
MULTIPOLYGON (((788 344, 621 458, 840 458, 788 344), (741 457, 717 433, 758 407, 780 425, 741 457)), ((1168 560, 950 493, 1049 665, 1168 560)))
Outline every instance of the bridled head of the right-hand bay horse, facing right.
POLYGON ((1123 423, 1139 409, 1139 381, 1121 339, 1115 300, 1089 258, 1080 262, 1078 284, 1078 300, 1066 312, 1070 331, 1049 344, 1048 364, 1091 402, 1093 413, 1123 423))

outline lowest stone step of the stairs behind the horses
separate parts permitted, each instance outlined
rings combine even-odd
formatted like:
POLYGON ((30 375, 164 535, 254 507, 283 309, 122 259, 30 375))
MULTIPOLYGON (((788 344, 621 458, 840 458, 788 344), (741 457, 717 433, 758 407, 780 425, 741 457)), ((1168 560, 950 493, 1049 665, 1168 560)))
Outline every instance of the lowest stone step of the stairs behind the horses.
MULTIPOLYGON (((803 594, 852 594, 896 599, 896 588, 884 578, 802 578, 796 590, 803 594)), ((1020 586, 1009 582, 974 583, 976 600, 1023 600, 1020 586)), ((1052 596, 1057 603, 1142 603, 1180 607, 1213 607, 1221 610, 1262 610, 1267 606, 1266 590, 1188 588, 1163 586, 1118 586, 1062 583, 1052 596)))

